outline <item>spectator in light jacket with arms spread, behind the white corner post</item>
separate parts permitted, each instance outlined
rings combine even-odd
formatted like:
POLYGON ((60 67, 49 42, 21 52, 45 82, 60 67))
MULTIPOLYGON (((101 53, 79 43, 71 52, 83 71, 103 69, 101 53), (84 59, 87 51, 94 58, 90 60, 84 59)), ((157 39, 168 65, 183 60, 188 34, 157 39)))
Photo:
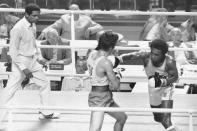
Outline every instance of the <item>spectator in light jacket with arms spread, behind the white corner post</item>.
MULTIPOLYGON (((77 4, 71 4, 69 6, 70 10, 80 10, 77 4)), ((97 32, 101 31, 103 27, 94 22, 89 16, 84 14, 75 14, 74 15, 75 22, 75 39, 76 40, 85 40, 91 39, 91 37, 95 36, 97 32)), ((70 14, 62 15, 59 20, 57 20, 54 24, 45 28, 38 39, 43 39, 46 36, 46 32, 48 29, 53 28, 56 29, 58 34, 62 38, 71 39, 71 16, 70 14)))

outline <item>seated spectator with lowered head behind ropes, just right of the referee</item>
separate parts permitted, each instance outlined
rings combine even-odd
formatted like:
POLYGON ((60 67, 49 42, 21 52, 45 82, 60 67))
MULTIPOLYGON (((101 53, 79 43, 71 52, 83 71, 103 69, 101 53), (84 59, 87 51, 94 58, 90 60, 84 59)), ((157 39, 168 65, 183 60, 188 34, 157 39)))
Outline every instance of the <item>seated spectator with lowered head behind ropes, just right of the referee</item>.
MULTIPOLYGON (((41 42, 41 45, 69 45, 69 41, 60 38, 54 29, 48 30, 46 33, 46 40, 41 42)), ((55 48, 42 48, 42 57, 48 64, 59 63, 68 65, 72 62, 70 49, 55 49, 55 48)), ((51 90, 61 90, 63 77, 61 81, 51 81, 51 90)))

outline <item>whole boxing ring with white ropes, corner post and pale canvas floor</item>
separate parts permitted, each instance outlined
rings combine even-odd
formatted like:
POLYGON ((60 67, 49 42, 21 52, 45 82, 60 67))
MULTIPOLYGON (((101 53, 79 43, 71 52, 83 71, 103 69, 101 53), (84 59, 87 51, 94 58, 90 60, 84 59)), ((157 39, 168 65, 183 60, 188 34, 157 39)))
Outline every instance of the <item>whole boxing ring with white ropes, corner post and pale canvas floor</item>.
MULTIPOLYGON (((24 12, 23 9, 2 9, 3 12, 24 12)), ((74 17, 75 13, 83 14, 130 14, 130 15, 197 15, 196 13, 186 12, 138 12, 138 11, 65 11, 65 10, 42 10, 43 13, 71 14, 71 46, 39 46, 41 48, 71 48, 72 59, 75 59, 75 51, 79 49, 94 48, 96 41, 86 41, 84 43, 91 44, 88 46, 79 45, 82 41, 74 40, 74 17)), ((140 43, 140 41, 129 41, 129 43, 140 43)), ((142 43, 143 41, 141 41, 142 43)), ((1 46, 9 46, 1 44, 1 46)), ((118 50, 139 50, 148 49, 147 47, 117 47, 118 50)), ((195 51, 195 48, 171 48, 170 50, 195 51)), ((74 68, 75 61, 72 65, 74 68)), ((126 68, 126 67, 125 67, 126 68)), ((127 68, 126 68, 127 70, 127 68)), ((0 79, 7 79, 9 72, 1 72, 0 79)), ((49 77, 89 77, 80 74, 65 74, 46 72, 49 77)), ((147 82, 145 75, 124 75, 121 82, 147 82)), ((181 76, 181 82, 197 83, 197 77, 181 76)), ((114 92, 114 99, 119 103, 120 108, 90 108, 87 105, 88 92, 61 91, 50 92, 51 106, 41 106, 39 104, 38 91, 17 91, 11 106, 0 107, 7 109, 8 115, 4 123, 8 125, 9 131, 87 131, 89 128, 91 111, 108 111, 120 112, 124 111, 129 118, 126 122, 124 131, 158 131, 163 127, 154 122, 152 112, 172 112, 172 121, 175 125, 182 128, 183 131, 197 130, 197 99, 196 95, 176 94, 174 97, 173 109, 151 109, 149 108, 148 94, 144 93, 123 93, 114 92), (27 97, 28 96, 28 97, 27 97), (39 120, 39 110, 53 110, 61 113, 60 119, 39 120)), ((114 120, 105 116, 102 131, 111 131, 113 129, 114 120)))

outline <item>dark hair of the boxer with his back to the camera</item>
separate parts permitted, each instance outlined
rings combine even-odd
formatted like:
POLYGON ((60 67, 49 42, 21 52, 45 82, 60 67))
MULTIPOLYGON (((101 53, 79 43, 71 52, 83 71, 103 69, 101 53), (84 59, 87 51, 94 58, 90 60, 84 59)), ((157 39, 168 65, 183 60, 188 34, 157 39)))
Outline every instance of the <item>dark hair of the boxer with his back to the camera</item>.
POLYGON ((114 48, 118 41, 118 35, 112 31, 105 31, 101 34, 98 40, 96 50, 102 49, 108 51, 111 47, 114 48))

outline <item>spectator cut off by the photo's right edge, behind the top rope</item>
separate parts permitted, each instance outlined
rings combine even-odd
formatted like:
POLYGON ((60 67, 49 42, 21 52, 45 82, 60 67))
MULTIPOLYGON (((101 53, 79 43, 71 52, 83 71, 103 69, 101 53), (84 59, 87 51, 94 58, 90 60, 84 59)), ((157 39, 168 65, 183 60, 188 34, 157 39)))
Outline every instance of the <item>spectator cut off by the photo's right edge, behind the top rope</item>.
MULTIPOLYGON (((191 12, 197 12, 197 5, 191 6, 191 12)), ((180 29, 183 33, 182 41, 195 41, 197 32, 197 16, 190 16, 188 20, 181 24, 180 29)))

